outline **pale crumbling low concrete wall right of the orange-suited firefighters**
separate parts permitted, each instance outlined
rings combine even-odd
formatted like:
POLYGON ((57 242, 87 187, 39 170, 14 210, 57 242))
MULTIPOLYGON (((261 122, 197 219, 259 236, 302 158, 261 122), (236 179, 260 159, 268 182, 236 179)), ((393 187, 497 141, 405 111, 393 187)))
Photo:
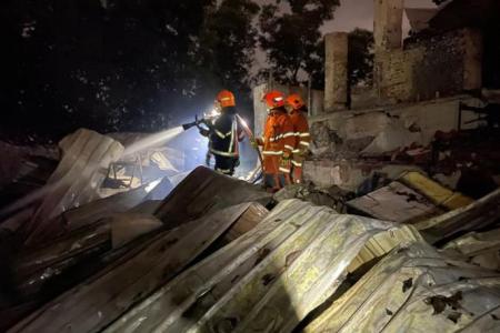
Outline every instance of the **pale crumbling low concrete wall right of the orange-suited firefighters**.
MULTIPOLYGON (((458 129, 459 103, 480 105, 470 97, 440 99, 410 105, 387 107, 364 111, 346 111, 310 119, 313 158, 304 164, 304 178, 322 188, 338 185, 356 191, 373 172, 398 176, 417 167, 390 165, 387 161, 363 160, 367 157, 391 155, 411 145, 428 147, 438 131, 458 129)), ((462 128, 478 115, 464 112, 462 128)))

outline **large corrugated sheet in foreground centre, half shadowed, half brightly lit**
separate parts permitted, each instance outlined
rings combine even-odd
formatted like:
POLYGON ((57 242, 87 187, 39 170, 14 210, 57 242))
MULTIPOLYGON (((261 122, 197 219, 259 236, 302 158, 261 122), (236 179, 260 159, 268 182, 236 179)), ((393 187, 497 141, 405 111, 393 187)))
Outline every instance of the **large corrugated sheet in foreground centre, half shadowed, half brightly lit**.
POLYGON ((350 265, 416 240, 411 226, 283 201, 107 332, 291 332, 336 292, 350 265))

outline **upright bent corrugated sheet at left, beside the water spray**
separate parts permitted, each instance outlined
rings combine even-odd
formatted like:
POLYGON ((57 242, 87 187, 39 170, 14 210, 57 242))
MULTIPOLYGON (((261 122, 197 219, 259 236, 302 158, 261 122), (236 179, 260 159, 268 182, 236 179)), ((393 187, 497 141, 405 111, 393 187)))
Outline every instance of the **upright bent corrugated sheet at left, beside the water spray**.
POLYGON ((118 141, 86 129, 66 137, 59 147, 62 159, 41 190, 43 195, 31 221, 22 226, 27 243, 61 234, 63 225, 53 223, 53 219, 98 199, 109 164, 118 161, 124 149, 118 141))

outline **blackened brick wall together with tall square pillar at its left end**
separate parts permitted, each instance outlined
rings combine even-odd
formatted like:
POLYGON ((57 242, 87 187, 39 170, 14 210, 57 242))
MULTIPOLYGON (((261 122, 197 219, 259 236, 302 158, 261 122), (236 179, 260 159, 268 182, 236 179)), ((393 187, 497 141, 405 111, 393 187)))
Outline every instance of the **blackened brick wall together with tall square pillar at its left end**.
POLYGON ((374 85, 380 103, 450 97, 482 85, 482 34, 453 29, 402 47, 403 0, 374 1, 374 85))

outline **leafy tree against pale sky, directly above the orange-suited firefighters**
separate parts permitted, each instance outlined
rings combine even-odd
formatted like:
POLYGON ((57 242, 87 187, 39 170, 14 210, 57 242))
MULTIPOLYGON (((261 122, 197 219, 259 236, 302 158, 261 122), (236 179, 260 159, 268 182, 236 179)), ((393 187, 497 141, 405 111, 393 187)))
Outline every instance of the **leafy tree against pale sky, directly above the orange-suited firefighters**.
MULTIPOLYGON (((260 47, 266 51, 269 68, 281 83, 300 84, 309 77, 314 88, 323 85, 324 47, 320 27, 333 18, 338 0, 274 1, 260 14, 260 47), (290 6, 290 12, 279 13, 279 3, 290 6)), ((262 72, 261 72, 262 74, 262 72)))

